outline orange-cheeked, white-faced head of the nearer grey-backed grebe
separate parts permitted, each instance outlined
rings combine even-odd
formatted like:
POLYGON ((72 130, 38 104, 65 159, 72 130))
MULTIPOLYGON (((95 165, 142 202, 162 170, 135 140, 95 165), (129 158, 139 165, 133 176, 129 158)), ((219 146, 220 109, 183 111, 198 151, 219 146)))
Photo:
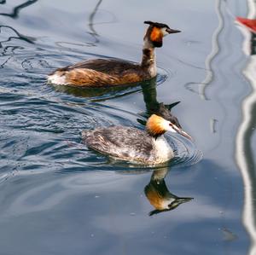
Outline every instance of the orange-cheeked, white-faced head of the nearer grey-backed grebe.
POLYGON ((166 131, 171 131, 173 133, 179 133, 182 136, 185 136, 192 140, 192 137, 189 136, 185 131, 183 131, 180 127, 173 124, 171 121, 166 120, 156 114, 152 114, 146 125, 146 129, 150 136, 157 138, 158 136, 163 135, 166 131))

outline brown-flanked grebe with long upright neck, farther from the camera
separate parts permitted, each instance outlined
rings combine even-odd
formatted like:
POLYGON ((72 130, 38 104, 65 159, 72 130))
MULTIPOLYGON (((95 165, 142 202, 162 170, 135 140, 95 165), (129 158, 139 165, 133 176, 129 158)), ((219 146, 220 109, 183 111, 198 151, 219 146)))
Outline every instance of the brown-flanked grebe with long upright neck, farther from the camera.
POLYGON ((166 24, 144 21, 148 30, 143 38, 143 59, 140 64, 115 59, 82 61, 62 67, 48 76, 51 84, 67 84, 80 87, 108 87, 134 84, 156 76, 154 48, 161 47, 169 33, 180 32, 166 24))

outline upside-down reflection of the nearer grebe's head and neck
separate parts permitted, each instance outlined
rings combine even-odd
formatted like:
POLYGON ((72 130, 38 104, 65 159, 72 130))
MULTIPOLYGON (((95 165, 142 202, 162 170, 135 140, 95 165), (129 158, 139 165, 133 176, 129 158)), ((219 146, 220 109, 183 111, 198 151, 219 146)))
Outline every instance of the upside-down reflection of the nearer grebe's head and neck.
POLYGON ((149 216, 160 212, 172 211, 177 208, 177 206, 193 200, 193 198, 190 197, 178 197, 168 190, 165 182, 167 173, 167 168, 154 171, 150 182, 144 188, 149 203, 155 208, 154 211, 148 213, 149 216))

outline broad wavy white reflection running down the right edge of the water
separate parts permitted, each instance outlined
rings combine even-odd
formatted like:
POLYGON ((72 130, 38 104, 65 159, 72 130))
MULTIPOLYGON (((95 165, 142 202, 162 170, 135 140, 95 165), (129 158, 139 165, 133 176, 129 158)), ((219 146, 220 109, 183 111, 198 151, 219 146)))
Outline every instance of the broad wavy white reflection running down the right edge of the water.
MULTIPOLYGON (((255 19, 256 2, 255 0, 247 0, 249 19, 255 19)), ((247 28, 240 26, 241 32, 244 35, 243 50, 246 55, 251 52, 251 32, 247 28)), ((241 103, 242 120, 236 134, 236 163, 241 171, 241 176, 244 183, 244 206, 242 212, 242 222, 247 229, 247 233, 251 238, 251 246, 248 254, 256 254, 256 227, 255 213, 253 212, 253 200, 256 199, 256 194, 253 190, 253 181, 255 182, 255 173, 250 166, 246 152, 247 146, 247 131, 251 129, 251 120, 253 118, 253 105, 256 102, 256 55, 251 55, 247 61, 247 66, 243 70, 244 76, 252 86, 252 92, 241 103), (253 180, 254 178, 254 180, 253 180)), ((251 136, 252 137, 252 136, 251 136)), ((250 148, 251 149, 251 148, 250 148)), ((253 152, 251 152, 253 154, 253 152)))

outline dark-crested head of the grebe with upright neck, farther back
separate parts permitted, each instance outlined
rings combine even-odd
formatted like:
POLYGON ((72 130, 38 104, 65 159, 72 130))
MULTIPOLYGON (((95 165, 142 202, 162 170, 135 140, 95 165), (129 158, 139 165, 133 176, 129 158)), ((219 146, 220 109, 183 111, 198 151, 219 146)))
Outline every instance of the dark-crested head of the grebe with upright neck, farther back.
POLYGON ((144 36, 144 41, 150 43, 151 47, 162 47, 163 37, 170 33, 180 32, 163 23, 152 21, 144 21, 144 23, 149 25, 144 36))

